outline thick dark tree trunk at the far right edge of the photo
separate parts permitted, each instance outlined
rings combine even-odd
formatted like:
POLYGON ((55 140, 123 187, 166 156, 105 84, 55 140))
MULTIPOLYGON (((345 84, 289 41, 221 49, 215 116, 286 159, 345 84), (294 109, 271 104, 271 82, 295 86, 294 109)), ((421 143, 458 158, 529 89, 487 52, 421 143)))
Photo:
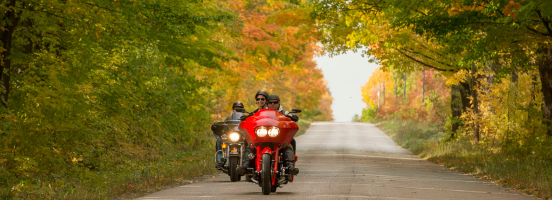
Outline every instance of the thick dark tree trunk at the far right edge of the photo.
POLYGON ((546 134, 552 136, 552 48, 541 48, 538 52, 537 65, 543 93, 544 124, 548 128, 546 134))

